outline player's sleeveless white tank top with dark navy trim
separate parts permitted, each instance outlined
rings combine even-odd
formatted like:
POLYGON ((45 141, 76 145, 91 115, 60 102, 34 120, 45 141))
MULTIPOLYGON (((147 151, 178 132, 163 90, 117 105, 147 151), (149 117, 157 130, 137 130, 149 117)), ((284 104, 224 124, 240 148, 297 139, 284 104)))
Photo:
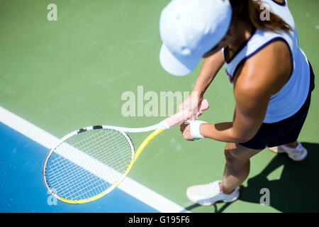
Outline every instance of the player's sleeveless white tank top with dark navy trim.
MULTIPOLYGON (((286 1, 284 4, 279 4, 272 0, 262 0, 262 2, 270 6, 270 10, 273 13, 283 18, 284 21, 293 28, 293 31, 290 33, 284 31, 274 33, 257 29, 244 45, 235 52, 235 55, 233 55, 230 60, 226 60, 226 73, 228 74, 230 82, 233 82, 233 75, 237 68, 249 57, 257 54, 259 50, 269 45, 269 43, 276 40, 283 40, 289 45, 293 63, 291 77, 279 92, 272 95, 263 121, 264 123, 274 123, 293 116, 293 114, 296 114, 296 112, 301 109, 301 106, 303 106, 309 92, 310 67, 306 55, 299 48, 296 24, 293 21, 293 16, 289 11, 286 1)), ((225 50, 223 50, 223 52, 225 55, 225 50)), ((280 62, 278 62, 278 64, 280 64, 280 62)), ((258 74, 256 74, 256 77, 258 77, 258 74)))

